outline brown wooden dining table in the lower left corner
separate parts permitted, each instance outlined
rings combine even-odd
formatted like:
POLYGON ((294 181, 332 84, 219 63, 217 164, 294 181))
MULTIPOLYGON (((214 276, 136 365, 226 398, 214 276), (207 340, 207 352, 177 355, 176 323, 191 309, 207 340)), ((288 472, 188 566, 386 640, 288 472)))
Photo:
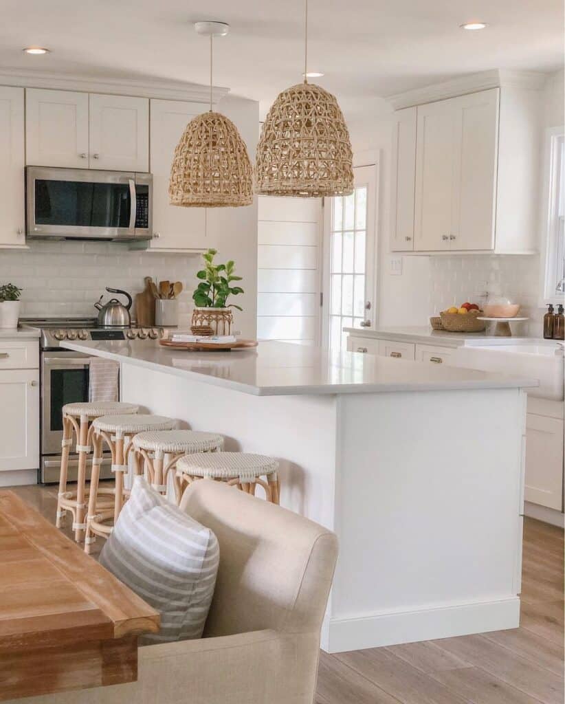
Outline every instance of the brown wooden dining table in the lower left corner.
POLYGON ((160 617, 11 491, 0 491, 0 701, 137 680, 160 617))

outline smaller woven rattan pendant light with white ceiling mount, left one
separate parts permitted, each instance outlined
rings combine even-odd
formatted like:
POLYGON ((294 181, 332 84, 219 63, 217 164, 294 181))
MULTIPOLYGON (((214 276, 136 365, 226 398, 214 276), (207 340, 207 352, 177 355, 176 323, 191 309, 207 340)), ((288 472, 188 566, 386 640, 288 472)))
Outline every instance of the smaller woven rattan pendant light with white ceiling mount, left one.
POLYGON ((210 37, 210 111, 193 118, 174 150, 169 197, 172 206, 218 208, 253 201, 253 171, 236 126, 212 111, 212 40, 229 25, 197 22, 198 34, 210 37))

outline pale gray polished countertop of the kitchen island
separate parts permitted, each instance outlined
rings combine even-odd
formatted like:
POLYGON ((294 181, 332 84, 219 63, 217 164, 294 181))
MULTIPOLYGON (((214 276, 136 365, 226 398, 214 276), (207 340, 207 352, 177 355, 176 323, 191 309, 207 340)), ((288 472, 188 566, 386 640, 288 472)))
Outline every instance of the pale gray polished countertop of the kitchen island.
POLYGON ((65 341, 65 348, 255 396, 516 389, 535 379, 276 341, 254 349, 175 351, 158 341, 65 341))

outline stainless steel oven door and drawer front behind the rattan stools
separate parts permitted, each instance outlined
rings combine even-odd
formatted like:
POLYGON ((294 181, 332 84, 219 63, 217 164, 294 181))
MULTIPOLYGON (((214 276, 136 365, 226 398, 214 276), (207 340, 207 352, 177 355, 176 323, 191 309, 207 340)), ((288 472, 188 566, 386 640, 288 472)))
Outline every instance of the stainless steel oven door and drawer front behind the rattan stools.
MULTIPOLYGON (((58 482, 63 439, 63 406, 89 398, 90 357, 80 352, 42 351, 41 482, 58 482)), ((101 476, 110 476, 111 460, 103 461, 101 476)), ((78 460, 71 455, 68 478, 76 479, 78 460)), ((88 467, 88 471, 90 467, 88 467)))

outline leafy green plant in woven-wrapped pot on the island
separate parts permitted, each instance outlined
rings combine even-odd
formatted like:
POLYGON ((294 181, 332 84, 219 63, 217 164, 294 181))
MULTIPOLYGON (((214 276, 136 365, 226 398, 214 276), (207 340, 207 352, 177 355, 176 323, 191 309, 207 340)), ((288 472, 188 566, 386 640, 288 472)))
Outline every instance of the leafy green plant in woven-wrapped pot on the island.
POLYGON ((215 249, 208 249, 202 255, 204 268, 196 274, 201 282, 192 294, 195 308, 191 327, 196 332, 231 335, 234 324, 231 308, 243 308, 227 301, 229 296, 243 294, 241 287, 232 285, 235 281, 241 281, 241 276, 234 274, 236 265, 231 260, 225 264, 215 264, 216 254, 215 249))

